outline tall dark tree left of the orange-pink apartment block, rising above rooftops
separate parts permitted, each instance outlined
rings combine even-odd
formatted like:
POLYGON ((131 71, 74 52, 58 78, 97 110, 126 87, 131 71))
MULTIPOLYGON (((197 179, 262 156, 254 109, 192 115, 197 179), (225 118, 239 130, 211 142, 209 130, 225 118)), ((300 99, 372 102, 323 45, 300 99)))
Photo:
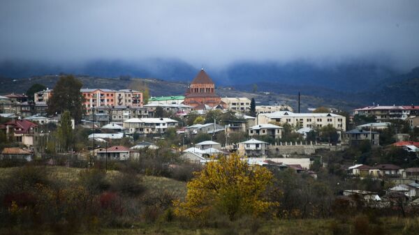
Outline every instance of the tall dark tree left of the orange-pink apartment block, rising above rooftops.
POLYGON ((84 113, 81 88, 82 82, 73 75, 61 76, 54 86, 51 98, 47 101, 48 114, 63 114, 68 110, 75 123, 80 123, 84 113))

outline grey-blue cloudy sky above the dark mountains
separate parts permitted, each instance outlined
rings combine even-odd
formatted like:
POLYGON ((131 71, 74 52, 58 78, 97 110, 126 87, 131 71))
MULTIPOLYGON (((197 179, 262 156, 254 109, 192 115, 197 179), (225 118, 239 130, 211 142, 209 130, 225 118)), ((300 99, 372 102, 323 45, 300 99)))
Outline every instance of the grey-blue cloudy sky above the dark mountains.
POLYGON ((0 60, 419 66, 419 1, 1 0, 0 60))

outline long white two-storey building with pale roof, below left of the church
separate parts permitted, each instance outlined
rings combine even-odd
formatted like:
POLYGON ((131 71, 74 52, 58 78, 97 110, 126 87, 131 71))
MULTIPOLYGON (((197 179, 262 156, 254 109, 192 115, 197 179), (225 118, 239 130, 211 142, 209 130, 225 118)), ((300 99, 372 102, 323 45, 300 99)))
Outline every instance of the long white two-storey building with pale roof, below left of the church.
POLYGON ((168 128, 175 128, 176 126, 176 120, 166 118, 135 118, 124 121, 124 128, 126 129, 127 134, 163 134, 168 128))

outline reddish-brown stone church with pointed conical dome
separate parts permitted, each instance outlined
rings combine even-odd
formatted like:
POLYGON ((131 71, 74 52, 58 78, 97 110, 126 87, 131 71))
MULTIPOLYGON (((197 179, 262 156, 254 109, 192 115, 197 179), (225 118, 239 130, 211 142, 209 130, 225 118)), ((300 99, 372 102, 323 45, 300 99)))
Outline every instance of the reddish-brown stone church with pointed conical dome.
POLYGON ((191 86, 186 90, 184 105, 189 105, 194 108, 205 105, 210 107, 216 107, 217 105, 224 106, 221 97, 215 93, 214 82, 212 82, 211 77, 205 73, 203 68, 193 79, 191 86))

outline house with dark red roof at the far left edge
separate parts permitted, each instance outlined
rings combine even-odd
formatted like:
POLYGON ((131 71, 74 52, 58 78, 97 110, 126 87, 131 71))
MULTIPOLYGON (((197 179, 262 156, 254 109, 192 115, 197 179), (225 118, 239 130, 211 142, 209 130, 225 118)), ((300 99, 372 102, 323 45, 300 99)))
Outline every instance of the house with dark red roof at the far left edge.
POLYGON ((4 123, 0 128, 6 130, 6 135, 12 135, 15 142, 26 146, 36 145, 38 125, 27 120, 13 120, 4 123))

